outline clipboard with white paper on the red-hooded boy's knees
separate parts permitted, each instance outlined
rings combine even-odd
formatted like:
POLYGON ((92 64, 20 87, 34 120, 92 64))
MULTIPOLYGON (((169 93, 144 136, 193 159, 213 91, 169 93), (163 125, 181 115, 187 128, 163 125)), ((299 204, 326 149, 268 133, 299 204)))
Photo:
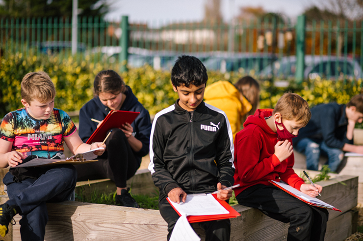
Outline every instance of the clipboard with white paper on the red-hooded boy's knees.
POLYGON ((297 199, 311 205, 311 206, 314 206, 314 207, 320 207, 320 208, 326 208, 326 209, 330 209, 330 210, 335 210, 335 211, 338 211, 338 212, 341 212, 339 209, 333 207, 332 205, 326 203, 326 202, 323 202, 322 200, 318 199, 318 198, 315 198, 315 197, 310 197, 306 194, 304 194, 303 192, 297 190, 296 188, 293 188, 285 183, 279 183, 279 182, 276 182, 276 181, 273 181, 273 180, 270 180, 268 181, 270 182, 271 184, 273 184, 274 186, 280 188, 281 190, 285 191, 286 193, 290 194, 291 196, 293 197, 296 197, 297 199), (288 187, 292 188, 291 190, 292 191, 289 191, 287 190, 288 187), (284 188, 285 187, 285 188, 284 188), (307 196, 307 199, 305 199, 304 197, 307 196))

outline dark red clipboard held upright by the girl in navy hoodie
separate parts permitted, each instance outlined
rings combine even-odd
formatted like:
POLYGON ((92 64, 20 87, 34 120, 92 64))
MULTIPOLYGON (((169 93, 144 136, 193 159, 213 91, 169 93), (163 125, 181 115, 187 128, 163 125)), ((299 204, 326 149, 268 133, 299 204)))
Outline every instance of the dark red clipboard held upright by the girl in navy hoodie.
POLYGON ((103 142, 107 131, 112 128, 120 128, 126 122, 131 124, 139 114, 140 112, 111 110, 104 118, 104 122, 92 133, 86 143, 103 142))

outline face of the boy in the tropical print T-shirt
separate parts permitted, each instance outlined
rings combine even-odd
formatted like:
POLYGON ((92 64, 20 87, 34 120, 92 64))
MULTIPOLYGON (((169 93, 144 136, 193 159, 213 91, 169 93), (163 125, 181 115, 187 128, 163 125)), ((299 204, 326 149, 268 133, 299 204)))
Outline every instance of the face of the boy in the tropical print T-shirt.
POLYGON ((52 110, 54 108, 54 98, 44 103, 38 100, 32 100, 27 103, 24 99, 21 100, 22 104, 26 107, 29 115, 36 120, 46 120, 51 117, 52 110))

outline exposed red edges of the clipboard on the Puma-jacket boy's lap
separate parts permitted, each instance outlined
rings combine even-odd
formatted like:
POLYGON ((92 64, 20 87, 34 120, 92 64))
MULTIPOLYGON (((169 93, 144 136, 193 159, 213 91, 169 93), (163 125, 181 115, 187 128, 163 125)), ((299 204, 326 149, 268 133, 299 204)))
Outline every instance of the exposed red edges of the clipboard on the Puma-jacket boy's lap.
MULTIPOLYGON (((237 211, 235 211, 233 209, 233 207, 231 207, 226 201, 222 201, 221 199, 219 199, 217 197, 217 194, 212 194, 212 196, 225 208, 227 209, 228 212, 230 212, 229 214, 217 214, 217 215, 202 215, 202 216, 188 216, 186 217, 186 219, 188 219, 189 223, 193 223, 193 222, 204 222, 204 221, 212 221, 212 220, 219 220, 219 219, 232 219, 232 218, 237 218, 239 216, 241 216, 237 211)), ((179 216, 181 216, 181 214, 175 209, 175 207, 173 206, 173 204, 169 201, 168 198, 166 198, 166 200, 168 200, 168 202, 170 203, 170 205, 174 208, 174 210, 177 212, 177 214, 179 216)))

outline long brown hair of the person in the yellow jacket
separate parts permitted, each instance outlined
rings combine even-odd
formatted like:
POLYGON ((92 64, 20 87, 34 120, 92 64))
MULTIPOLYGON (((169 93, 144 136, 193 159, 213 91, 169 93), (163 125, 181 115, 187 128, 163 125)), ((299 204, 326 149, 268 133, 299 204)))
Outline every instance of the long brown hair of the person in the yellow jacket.
MULTIPOLYGON (((251 76, 239 79, 234 87, 250 102, 252 109, 246 115, 252 115, 259 107, 259 82, 251 76)), ((246 116, 247 118, 247 116, 246 116)))

